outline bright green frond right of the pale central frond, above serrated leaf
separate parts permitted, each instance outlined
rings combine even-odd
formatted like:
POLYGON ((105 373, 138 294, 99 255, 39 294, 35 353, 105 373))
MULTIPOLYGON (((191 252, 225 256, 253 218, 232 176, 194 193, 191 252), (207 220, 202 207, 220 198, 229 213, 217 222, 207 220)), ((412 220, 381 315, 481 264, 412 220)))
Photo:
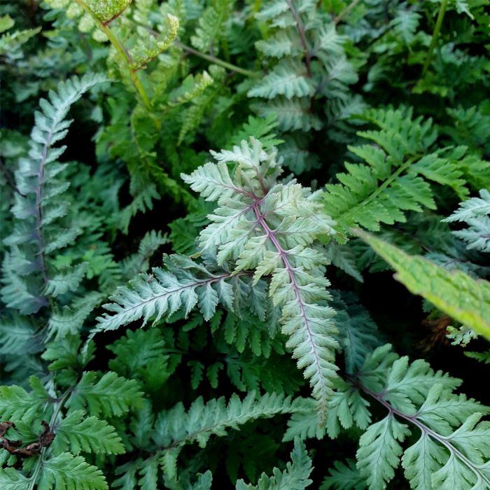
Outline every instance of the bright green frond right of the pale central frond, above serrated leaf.
POLYGON ((352 226, 378 231, 381 223, 405 222, 406 211, 435 209, 430 181, 468 195, 458 159, 465 148, 443 148, 430 153, 437 133, 430 120, 412 121, 412 112, 370 111, 367 119, 377 131, 358 132, 376 146, 349 147, 367 165, 346 163, 337 174, 341 183, 325 187, 325 207, 337 221, 337 230, 352 226))

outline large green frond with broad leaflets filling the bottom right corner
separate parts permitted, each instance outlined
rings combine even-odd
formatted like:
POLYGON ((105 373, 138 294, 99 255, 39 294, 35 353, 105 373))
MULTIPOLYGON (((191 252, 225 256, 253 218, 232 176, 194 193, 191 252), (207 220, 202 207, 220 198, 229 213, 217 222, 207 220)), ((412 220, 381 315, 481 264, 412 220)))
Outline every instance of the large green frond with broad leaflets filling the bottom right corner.
POLYGON ((489 408, 452 393, 460 383, 434 372, 423 360, 410 364, 406 357, 392 353, 389 345, 367 356, 350 383, 337 392, 342 407, 337 417, 344 428, 355 423, 365 430, 357 467, 369 489, 386 487, 400 457, 405 476, 417 490, 483 489, 490 484, 486 472, 490 423, 479 421, 489 408), (354 394, 356 404, 348 401, 354 394), (379 402, 388 415, 372 423, 368 400, 379 402), (419 440, 402 449, 414 428, 420 431, 419 440))

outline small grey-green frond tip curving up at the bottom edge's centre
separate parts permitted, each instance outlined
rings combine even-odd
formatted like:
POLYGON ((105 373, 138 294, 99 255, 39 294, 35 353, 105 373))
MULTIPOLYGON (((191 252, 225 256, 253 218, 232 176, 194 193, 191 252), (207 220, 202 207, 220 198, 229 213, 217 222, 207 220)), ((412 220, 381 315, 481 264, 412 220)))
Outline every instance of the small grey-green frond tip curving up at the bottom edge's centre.
POLYGON ((311 459, 308 456, 304 442, 299 438, 295 439, 293 451, 291 451, 291 461, 287 463, 286 470, 278 468, 272 470, 273 475, 269 477, 262 473, 256 485, 246 484, 239 479, 235 488, 237 490, 303 490, 313 481, 309 479, 311 470, 311 459))

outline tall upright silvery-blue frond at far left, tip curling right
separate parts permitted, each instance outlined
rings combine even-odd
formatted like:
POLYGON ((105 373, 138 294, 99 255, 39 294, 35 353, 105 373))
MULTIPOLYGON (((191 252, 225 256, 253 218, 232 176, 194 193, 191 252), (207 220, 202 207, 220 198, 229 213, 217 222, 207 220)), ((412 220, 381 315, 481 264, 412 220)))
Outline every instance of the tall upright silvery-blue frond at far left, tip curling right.
POLYGON ((29 158, 21 158, 16 181, 20 193, 15 195, 12 208, 16 225, 6 239, 10 253, 3 269, 3 300, 23 314, 34 313, 48 304, 47 297, 56 297, 78 286, 85 266, 57 272, 48 258, 53 252, 70 244, 79 234, 76 228, 62 228, 69 203, 62 193, 69 184, 57 175, 66 164, 57 160, 66 147, 55 144, 66 136, 71 121, 66 113, 81 95, 104 81, 101 76, 87 75, 59 84, 58 92, 50 92, 49 101, 41 99, 41 112, 29 141, 29 158), (13 271, 15 270, 15 274, 13 271))

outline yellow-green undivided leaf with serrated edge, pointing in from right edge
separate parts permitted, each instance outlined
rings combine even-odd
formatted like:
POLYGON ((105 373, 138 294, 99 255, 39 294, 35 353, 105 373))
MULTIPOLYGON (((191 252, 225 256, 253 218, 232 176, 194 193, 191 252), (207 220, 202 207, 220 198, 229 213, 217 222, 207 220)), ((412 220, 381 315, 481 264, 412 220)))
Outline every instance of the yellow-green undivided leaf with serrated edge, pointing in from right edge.
POLYGON ((448 271, 419 255, 407 255, 365 232, 356 232, 395 269, 395 278, 456 321, 490 339, 490 283, 461 271, 448 271), (461 290, 465 295, 461 296, 461 290))

